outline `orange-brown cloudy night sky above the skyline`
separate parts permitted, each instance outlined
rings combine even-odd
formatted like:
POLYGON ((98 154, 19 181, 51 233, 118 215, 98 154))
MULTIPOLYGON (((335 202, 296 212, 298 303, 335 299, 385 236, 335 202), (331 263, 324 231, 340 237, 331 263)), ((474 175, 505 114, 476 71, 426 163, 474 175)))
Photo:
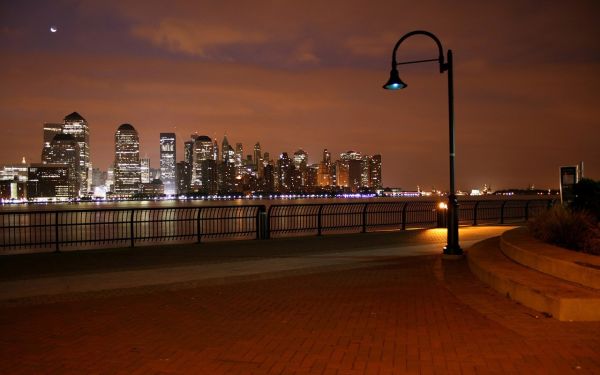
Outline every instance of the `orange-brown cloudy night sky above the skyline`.
MULTIPOLYGON (((155 168, 160 132, 176 132, 178 160, 191 133, 227 134, 311 163, 323 148, 381 153, 385 186, 447 189, 446 74, 402 66, 409 87, 381 88, 396 41, 424 29, 454 53, 459 189, 558 188, 558 167, 581 160, 598 179, 599 14, 598 1, 3 0, 0 164, 39 162, 43 123, 77 111, 102 169, 130 123, 155 168)), ((422 36, 398 53, 436 57, 422 36)))

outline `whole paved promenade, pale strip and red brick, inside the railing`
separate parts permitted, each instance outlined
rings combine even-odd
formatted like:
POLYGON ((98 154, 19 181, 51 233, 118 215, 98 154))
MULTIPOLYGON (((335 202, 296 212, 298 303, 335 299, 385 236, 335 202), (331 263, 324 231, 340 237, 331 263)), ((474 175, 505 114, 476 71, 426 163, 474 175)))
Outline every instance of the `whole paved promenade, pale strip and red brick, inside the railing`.
MULTIPOLYGON (((461 228, 462 246, 512 227, 461 228)), ((445 230, 0 258, 0 373, 598 373, 560 322, 442 259, 445 230)))

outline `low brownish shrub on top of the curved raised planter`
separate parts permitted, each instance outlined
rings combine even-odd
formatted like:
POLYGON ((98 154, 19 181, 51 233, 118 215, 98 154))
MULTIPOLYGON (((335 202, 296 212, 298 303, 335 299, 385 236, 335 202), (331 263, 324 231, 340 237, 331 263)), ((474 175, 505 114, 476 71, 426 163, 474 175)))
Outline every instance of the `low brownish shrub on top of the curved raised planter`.
POLYGON ((544 242, 600 255, 600 222, 588 211, 556 205, 530 221, 529 231, 544 242))

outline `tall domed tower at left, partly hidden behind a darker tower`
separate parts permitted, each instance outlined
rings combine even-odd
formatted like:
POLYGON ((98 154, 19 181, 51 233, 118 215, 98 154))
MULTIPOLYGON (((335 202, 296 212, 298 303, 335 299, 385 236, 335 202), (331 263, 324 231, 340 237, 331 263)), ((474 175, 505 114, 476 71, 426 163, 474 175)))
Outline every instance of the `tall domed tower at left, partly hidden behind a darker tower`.
POLYGON ((92 187, 92 163, 90 160, 90 131, 87 121, 77 112, 67 115, 62 132, 71 134, 79 144, 79 171, 81 185, 79 195, 87 195, 92 187))

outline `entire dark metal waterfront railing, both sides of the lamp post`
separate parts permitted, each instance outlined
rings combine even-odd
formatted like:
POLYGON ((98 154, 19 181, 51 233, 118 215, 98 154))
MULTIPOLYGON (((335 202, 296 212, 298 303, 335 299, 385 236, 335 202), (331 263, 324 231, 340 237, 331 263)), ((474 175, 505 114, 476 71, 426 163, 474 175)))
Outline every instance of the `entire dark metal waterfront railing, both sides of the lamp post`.
MULTIPOLYGON (((463 225, 527 221, 551 199, 461 201, 463 225)), ((155 243, 445 227, 434 201, 0 212, 0 248, 61 251, 155 243)))

